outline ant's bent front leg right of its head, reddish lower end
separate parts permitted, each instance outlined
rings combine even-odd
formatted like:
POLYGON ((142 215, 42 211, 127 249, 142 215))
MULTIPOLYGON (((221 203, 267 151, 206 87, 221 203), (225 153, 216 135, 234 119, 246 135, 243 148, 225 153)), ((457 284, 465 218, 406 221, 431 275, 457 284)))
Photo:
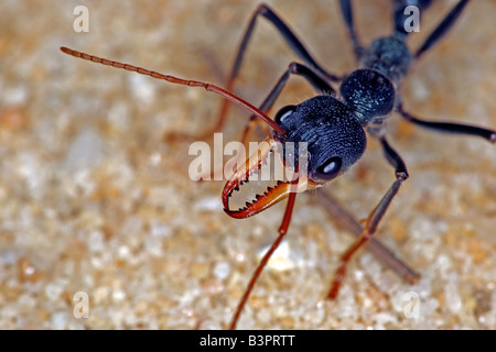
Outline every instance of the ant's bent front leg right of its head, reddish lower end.
POLYGON ((341 283, 343 282, 344 275, 346 274, 346 265, 349 263, 353 255, 365 244, 370 241, 370 238, 376 233, 377 227, 386 213, 389 205, 391 204, 395 196, 398 194, 398 190, 403 183, 408 178, 407 167, 399 156, 399 154, 389 145, 386 139, 380 138, 380 143, 382 145, 385 155, 389 164, 391 164, 396 169, 396 180, 388 189, 386 195, 379 201, 379 204, 374 208, 374 210, 368 216, 364 230, 362 231, 358 240, 355 241, 354 244, 343 254, 341 258, 341 265, 336 271, 334 276, 333 284, 328 292, 328 297, 331 299, 337 296, 337 293, 341 287, 341 283))

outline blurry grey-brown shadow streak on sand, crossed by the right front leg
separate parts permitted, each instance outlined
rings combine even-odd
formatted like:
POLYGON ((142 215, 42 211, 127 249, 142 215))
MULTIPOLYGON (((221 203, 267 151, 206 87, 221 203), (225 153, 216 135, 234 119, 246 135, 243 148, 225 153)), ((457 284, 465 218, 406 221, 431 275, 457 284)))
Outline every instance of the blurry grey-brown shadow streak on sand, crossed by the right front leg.
MULTIPOLYGON (((358 238, 360 235, 364 231, 364 227, 343 209, 334 197, 322 188, 317 188, 315 195, 316 200, 330 213, 333 221, 352 232, 355 237, 358 238)), ((378 239, 370 238, 370 241, 366 244, 366 250, 373 253, 384 265, 392 270, 409 284, 414 284, 420 278, 418 273, 398 258, 395 253, 386 248, 378 239)))

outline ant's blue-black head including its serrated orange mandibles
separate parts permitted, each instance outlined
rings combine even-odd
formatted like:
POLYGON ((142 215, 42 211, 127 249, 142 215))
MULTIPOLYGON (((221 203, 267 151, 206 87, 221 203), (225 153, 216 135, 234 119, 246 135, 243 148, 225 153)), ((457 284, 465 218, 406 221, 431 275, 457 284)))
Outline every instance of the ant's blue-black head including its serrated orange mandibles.
POLYGON ((274 120, 285 132, 274 131, 260 143, 224 188, 224 210, 234 218, 254 216, 292 191, 330 182, 354 165, 366 147, 364 128, 354 112, 331 96, 287 106, 274 120), (271 177, 261 184, 265 169, 271 177))

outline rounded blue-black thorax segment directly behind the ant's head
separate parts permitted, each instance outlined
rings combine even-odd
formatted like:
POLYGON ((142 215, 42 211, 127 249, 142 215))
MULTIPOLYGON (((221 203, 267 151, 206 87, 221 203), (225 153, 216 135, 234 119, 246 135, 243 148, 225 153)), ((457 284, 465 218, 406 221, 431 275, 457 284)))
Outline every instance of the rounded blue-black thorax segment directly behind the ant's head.
POLYGON ((357 69, 349 74, 339 92, 364 125, 377 117, 387 116, 395 105, 392 82, 374 69, 357 69))

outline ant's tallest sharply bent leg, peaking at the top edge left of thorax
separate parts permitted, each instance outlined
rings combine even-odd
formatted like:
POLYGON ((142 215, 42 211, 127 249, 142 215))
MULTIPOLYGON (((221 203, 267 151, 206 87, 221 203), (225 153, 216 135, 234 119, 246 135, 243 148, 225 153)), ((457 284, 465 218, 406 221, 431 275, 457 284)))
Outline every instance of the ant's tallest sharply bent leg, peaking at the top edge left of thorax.
MULTIPOLYGON (((309 51, 305 48, 305 46, 302 44, 302 42, 296 37, 293 31, 282 21, 282 19, 278 14, 276 14, 276 12, 273 12, 267 4, 261 3, 260 6, 258 6, 257 10, 251 15, 251 19, 242 36, 241 43, 239 44, 238 52, 236 54, 236 58, 233 64, 233 68, 227 78, 226 90, 233 91, 234 81, 239 74, 242 59, 245 57, 245 53, 248 47, 248 43, 251 38, 251 34, 257 23, 257 18, 259 15, 266 18, 270 23, 272 23, 276 26, 276 30, 282 35, 284 41, 293 51, 293 53, 296 54, 296 56, 300 57, 305 64, 314 68, 314 70, 317 72, 319 75, 332 81, 338 81, 342 79, 341 77, 328 73, 320 64, 317 64, 315 59, 312 57, 312 55, 309 53, 309 51)), ((203 138, 206 139, 211 136, 214 132, 220 131, 224 128, 228 109, 229 103, 227 101, 223 101, 216 124, 212 128, 212 130, 206 132, 203 135, 203 138)))

